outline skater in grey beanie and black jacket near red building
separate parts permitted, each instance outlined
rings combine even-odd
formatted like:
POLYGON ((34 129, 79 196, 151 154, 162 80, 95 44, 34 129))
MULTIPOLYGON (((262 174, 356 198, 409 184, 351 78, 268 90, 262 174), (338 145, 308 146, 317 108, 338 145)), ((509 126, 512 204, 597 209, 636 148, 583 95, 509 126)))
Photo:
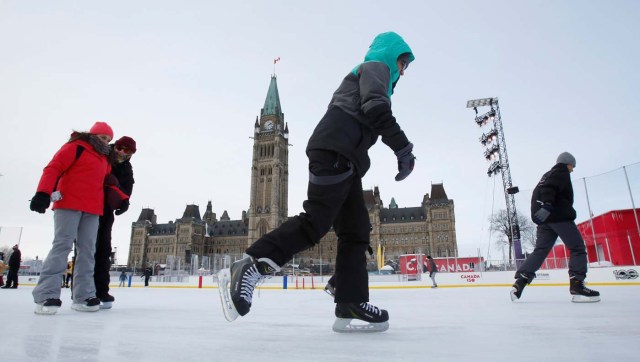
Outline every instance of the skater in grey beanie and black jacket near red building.
POLYGON ((576 159, 569 152, 558 156, 555 166, 546 172, 531 196, 531 219, 538 225, 536 247, 518 268, 511 300, 520 299, 522 291, 536 276, 558 237, 569 249, 569 292, 574 302, 598 302, 600 293, 584 286, 587 277, 587 251, 576 226, 573 208, 573 185, 570 174, 576 159))

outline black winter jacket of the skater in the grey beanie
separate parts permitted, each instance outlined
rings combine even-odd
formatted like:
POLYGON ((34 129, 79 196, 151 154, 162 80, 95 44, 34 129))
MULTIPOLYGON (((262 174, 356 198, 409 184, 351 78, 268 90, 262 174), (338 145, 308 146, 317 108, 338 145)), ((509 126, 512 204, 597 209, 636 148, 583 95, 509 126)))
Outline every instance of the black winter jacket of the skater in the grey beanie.
POLYGON ((542 204, 553 206, 551 215, 545 223, 574 221, 576 210, 573 208, 573 186, 567 165, 558 163, 545 173, 531 195, 531 215, 542 204))

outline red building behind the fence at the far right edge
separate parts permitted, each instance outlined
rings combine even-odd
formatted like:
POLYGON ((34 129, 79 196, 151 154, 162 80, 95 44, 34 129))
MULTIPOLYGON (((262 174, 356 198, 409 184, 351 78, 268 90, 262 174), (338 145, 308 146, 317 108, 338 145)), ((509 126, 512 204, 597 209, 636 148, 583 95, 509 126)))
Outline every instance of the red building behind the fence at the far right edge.
MULTIPOLYGON (((578 230, 587 246, 589 263, 640 265, 640 231, 637 220, 640 220, 640 209, 635 209, 635 216, 634 210, 626 209, 609 211, 578 224, 578 230)), ((564 244, 556 245, 548 256, 549 259, 556 258, 558 263, 558 259, 568 257, 569 251, 564 244)))

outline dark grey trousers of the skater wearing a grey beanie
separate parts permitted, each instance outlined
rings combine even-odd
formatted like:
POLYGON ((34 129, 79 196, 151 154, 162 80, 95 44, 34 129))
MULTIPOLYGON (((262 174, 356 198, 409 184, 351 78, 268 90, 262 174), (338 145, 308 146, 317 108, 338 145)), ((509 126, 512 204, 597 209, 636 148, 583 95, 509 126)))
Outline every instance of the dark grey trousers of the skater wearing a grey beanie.
POLYGON ((569 276, 584 281, 587 277, 587 250, 578 227, 572 221, 538 225, 536 247, 518 269, 516 278, 519 273, 523 273, 529 280, 533 280, 558 237, 569 249, 569 276))

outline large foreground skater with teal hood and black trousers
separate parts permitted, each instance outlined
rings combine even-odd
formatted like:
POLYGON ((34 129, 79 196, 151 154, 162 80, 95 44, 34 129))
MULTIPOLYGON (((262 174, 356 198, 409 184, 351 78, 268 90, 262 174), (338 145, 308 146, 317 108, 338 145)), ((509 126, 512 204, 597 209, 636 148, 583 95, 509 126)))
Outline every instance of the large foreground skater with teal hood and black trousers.
POLYGON ((371 165, 368 150, 380 138, 396 155, 396 181, 413 171, 413 144, 391 111, 391 95, 407 67, 415 59, 411 48, 393 32, 373 40, 364 62, 343 79, 328 109, 317 124, 306 153, 309 184, 304 212, 265 234, 231 265, 225 316, 246 315, 255 286, 285 265, 296 253, 318 244, 333 227, 338 237, 333 325, 336 332, 377 332, 389 327, 389 314, 369 303, 365 252, 369 247, 369 214, 362 177, 371 165), (366 324, 351 324, 358 319, 366 324))

